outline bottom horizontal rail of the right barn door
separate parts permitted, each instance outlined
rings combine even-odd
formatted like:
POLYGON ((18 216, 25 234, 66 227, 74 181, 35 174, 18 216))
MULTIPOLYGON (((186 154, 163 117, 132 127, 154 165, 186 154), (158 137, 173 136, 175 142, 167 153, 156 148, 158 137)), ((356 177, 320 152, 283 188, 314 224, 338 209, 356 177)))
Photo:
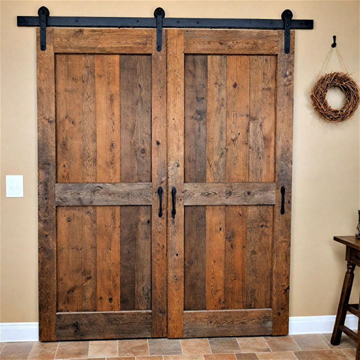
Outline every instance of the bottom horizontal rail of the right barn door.
POLYGON ((271 334, 270 308, 184 311, 184 337, 271 334))

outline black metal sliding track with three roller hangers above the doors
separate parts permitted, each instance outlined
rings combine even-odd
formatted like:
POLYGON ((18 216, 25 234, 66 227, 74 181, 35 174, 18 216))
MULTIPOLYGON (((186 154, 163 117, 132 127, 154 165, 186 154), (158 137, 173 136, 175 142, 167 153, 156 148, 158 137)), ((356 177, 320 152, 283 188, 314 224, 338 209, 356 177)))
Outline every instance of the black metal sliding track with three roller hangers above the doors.
MULTIPOLYGON (((292 12, 288 9, 281 14, 281 19, 252 19, 252 18, 187 18, 165 17, 161 7, 154 11, 154 17, 95 17, 95 16, 49 16, 45 6, 38 9, 38 16, 17 16, 17 26, 40 26, 44 32, 46 26, 52 27, 153 27, 157 28, 157 50, 161 50, 162 27, 187 28, 234 28, 234 29, 268 29, 284 30, 285 52, 289 52, 289 34, 291 29, 312 29, 313 20, 293 20, 292 12)), ((45 40, 41 43, 41 50, 46 48, 45 40), (44 48, 43 48, 44 46, 44 48)))

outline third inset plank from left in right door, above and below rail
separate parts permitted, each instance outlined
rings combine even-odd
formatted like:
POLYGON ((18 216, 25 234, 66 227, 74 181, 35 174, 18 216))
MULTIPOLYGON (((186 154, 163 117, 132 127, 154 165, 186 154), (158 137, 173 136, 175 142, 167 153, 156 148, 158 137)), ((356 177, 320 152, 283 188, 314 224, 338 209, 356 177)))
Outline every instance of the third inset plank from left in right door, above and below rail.
MULTIPOLYGON (((226 60, 225 180, 248 181, 249 56, 226 60)), ((225 218, 225 308, 244 308, 247 206, 225 206, 225 218)))

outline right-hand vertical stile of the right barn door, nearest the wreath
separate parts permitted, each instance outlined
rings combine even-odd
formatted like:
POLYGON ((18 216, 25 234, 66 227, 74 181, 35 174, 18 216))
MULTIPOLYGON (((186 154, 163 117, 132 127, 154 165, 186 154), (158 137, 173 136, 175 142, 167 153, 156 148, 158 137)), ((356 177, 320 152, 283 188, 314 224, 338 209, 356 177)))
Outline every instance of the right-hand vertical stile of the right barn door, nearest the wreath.
POLYGON ((283 51, 283 31, 278 31, 276 96, 276 203, 272 243, 272 334, 288 333, 291 239, 292 109, 295 32, 290 53, 283 51), (281 36, 282 34, 282 36, 281 36), (281 186, 285 187, 285 213, 280 214, 281 186))

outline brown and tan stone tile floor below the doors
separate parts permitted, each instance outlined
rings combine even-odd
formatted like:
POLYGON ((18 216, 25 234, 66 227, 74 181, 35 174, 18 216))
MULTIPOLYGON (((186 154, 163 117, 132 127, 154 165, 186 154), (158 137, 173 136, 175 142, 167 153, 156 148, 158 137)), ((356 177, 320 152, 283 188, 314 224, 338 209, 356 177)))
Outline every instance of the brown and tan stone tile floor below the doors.
POLYGON ((61 342, 0 342, 1 360, 353 360, 355 342, 331 334, 61 342))

